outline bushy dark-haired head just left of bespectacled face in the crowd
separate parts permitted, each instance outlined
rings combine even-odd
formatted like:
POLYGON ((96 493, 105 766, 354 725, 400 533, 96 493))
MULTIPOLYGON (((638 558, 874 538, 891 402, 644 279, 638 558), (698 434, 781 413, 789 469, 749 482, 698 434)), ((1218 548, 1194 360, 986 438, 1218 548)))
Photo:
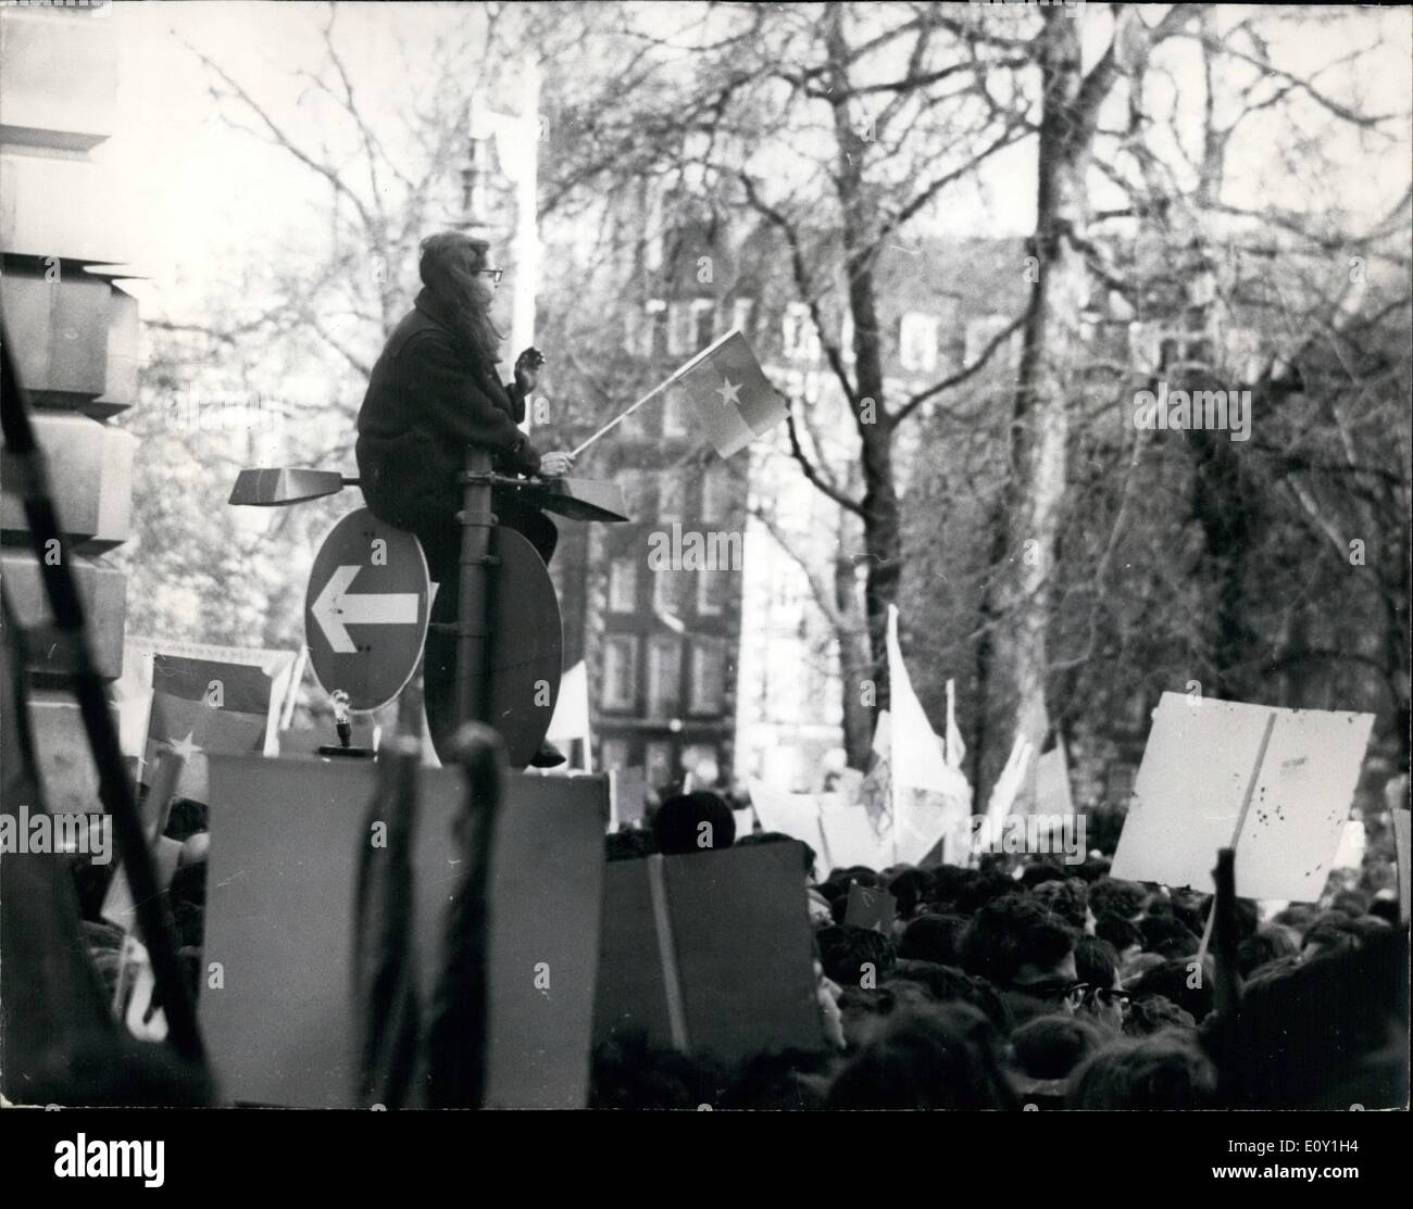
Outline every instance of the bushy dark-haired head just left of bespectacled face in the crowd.
POLYGON ((1074 932, 1026 894, 998 898, 976 912, 962 939, 962 967, 996 986, 1017 1024, 1074 1011, 1082 999, 1074 932))

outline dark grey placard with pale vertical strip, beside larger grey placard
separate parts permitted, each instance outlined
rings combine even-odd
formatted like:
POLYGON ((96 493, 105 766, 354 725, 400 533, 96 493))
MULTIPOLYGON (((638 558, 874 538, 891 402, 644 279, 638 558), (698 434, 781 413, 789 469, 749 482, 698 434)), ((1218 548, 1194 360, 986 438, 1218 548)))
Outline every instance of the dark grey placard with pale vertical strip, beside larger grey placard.
POLYGON ((593 1040, 642 1031, 725 1062, 818 1049, 812 953, 797 843, 613 862, 593 1040))

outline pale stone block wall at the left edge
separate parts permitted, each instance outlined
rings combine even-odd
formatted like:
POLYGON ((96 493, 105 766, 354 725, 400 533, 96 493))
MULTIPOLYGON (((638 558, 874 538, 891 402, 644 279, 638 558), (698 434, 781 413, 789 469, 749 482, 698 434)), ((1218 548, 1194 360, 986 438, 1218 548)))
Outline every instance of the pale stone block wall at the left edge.
MULTIPOLYGON (((114 266, 103 168, 117 47, 110 11, 0 7, 0 308, 34 404, 59 521, 102 674, 123 668, 126 578, 105 554, 130 535, 136 441, 107 424, 137 401, 137 301, 114 266)), ((0 579, 31 631, 30 672, 49 809, 99 808, 88 742, 64 667, 24 510, 0 453, 0 579)))

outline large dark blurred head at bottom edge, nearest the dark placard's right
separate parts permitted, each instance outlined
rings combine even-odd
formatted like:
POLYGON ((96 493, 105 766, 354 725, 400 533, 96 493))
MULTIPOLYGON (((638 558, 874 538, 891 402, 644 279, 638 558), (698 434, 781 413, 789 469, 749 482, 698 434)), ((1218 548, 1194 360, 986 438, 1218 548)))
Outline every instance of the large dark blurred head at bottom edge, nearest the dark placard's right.
POLYGON ((1000 1034, 966 1004, 894 1013, 838 1073, 831 1109, 1015 1109, 1000 1034))

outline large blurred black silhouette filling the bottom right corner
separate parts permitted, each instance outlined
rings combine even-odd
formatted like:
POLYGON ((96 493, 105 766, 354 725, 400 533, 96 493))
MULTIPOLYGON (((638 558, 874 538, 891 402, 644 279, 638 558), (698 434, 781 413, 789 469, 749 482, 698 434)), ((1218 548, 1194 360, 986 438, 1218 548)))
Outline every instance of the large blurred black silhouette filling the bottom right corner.
POLYGON ((1202 1041, 1228 1107, 1406 1107, 1407 931, 1388 928, 1361 948, 1263 970, 1235 1013, 1202 1028, 1202 1041))

